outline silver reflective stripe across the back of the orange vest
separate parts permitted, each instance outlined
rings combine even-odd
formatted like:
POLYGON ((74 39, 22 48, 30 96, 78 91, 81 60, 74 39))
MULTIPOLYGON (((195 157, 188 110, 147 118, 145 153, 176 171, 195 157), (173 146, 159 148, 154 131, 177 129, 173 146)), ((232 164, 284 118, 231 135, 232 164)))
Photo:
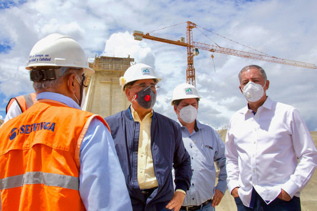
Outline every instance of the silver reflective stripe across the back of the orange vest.
POLYGON ((25 174, 0 179, 0 191, 22 187, 25 184, 45 184, 47 186, 58 186, 78 191, 79 179, 78 177, 62 174, 26 172, 25 174))

